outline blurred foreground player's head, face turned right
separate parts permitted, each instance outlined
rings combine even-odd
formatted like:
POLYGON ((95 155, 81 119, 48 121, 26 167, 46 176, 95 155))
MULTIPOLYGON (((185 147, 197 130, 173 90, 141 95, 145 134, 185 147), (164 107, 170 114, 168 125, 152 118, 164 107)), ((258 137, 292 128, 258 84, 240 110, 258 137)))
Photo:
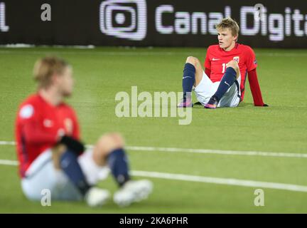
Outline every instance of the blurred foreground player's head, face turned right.
POLYGON ((60 95, 72 93, 72 67, 63 59, 45 57, 36 61, 33 69, 34 79, 38 82, 38 90, 53 88, 60 95))

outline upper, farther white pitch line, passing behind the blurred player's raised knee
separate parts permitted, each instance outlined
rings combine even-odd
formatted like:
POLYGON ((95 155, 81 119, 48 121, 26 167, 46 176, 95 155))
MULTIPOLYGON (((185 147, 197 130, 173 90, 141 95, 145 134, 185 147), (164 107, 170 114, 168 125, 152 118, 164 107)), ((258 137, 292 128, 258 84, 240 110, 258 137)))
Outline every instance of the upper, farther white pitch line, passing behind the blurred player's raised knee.
MULTIPOLYGON (((0 141, 0 145, 15 145, 15 142, 0 141)), ((93 145, 86 145, 92 148, 93 145)), ((208 149, 189 149, 189 148, 173 148, 173 147, 141 147, 141 146, 126 146, 126 150, 131 151, 159 151, 159 152, 190 152, 201 154, 215 155, 245 155, 245 156, 262 156, 262 157, 299 157, 307 158, 307 153, 293 152, 262 152, 262 151, 238 151, 238 150, 208 150, 208 149)))

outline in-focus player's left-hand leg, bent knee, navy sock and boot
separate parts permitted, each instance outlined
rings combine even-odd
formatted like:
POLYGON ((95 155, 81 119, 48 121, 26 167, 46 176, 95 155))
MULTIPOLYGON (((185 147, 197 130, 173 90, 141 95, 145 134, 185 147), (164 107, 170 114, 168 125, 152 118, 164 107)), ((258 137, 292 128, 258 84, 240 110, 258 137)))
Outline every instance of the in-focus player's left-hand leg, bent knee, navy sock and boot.
POLYGON ((191 107, 192 98, 191 92, 193 86, 198 86, 203 78, 203 68, 198 61, 198 58, 189 56, 185 61, 185 67, 183 69, 183 100, 178 104, 178 108, 191 107))

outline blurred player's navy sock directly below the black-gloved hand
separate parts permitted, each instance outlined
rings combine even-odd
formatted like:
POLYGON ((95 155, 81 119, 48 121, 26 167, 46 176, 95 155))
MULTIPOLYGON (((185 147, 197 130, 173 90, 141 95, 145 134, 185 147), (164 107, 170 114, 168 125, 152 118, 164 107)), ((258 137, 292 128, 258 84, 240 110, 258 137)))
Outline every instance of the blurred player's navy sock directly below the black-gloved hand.
POLYGON ((68 176, 70 181, 80 190, 81 194, 84 196, 85 193, 90 189, 90 185, 85 179, 79 162, 77 161, 77 155, 71 150, 66 150, 60 157, 60 167, 63 172, 68 176))

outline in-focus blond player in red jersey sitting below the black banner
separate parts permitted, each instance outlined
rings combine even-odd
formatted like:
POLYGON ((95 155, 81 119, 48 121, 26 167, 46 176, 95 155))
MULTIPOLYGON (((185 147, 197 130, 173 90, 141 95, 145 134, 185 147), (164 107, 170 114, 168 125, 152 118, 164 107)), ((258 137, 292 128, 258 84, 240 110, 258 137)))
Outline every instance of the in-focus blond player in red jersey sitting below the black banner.
POLYGON ((244 98, 244 86, 248 73, 249 86, 255 106, 267 106, 257 79, 257 61, 249 46, 237 43, 239 26, 231 18, 217 24, 218 44, 208 47, 205 72, 198 58, 189 56, 183 70, 183 100, 179 108, 193 105, 190 93, 205 108, 237 107, 244 98))

